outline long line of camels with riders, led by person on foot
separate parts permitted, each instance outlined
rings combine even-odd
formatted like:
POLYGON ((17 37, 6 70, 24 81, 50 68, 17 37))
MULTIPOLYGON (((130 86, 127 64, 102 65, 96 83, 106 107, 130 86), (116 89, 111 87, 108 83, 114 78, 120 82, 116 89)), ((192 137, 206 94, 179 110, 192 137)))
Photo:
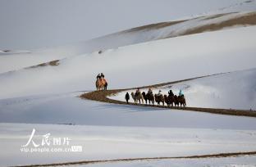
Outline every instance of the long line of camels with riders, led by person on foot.
MULTIPOLYGON (((174 95, 174 93, 172 93, 172 91, 170 90, 168 92, 168 95, 162 95, 162 91, 159 90, 158 93, 156 94, 153 94, 151 88, 149 88, 149 91, 148 93, 141 93, 139 88, 136 90, 135 93, 130 93, 131 97, 134 99, 135 101, 135 104, 137 104, 139 102, 139 104, 144 104, 144 101, 145 101, 145 104, 148 104, 149 102, 149 105, 152 104, 154 106, 155 102, 158 104, 158 105, 162 105, 164 106, 164 104, 166 103, 168 107, 171 107, 171 106, 183 106, 185 107, 186 106, 186 103, 185 103, 185 96, 184 96, 184 93, 182 90, 180 90, 180 93, 179 95, 174 95)), ((126 102, 127 104, 129 103, 129 100, 130 100, 130 95, 129 93, 126 93, 126 102)))

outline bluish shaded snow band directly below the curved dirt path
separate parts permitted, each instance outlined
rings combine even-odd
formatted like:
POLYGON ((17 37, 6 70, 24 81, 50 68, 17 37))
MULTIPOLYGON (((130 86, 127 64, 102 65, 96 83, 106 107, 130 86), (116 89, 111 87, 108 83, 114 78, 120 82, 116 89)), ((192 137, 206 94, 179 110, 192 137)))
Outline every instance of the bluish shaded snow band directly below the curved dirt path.
POLYGON ((80 92, 0 100, 0 122, 256 129, 256 120, 252 117, 114 105, 80 99, 78 95, 80 92))

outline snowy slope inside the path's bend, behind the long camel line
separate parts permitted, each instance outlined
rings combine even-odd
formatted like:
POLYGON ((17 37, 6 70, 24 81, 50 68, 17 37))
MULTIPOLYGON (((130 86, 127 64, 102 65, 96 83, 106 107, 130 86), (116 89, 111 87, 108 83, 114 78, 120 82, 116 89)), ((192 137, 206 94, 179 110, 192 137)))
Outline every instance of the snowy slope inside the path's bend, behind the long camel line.
MULTIPOLYGON (((176 95, 182 89, 185 93, 187 106, 232 108, 256 110, 256 69, 242 70, 226 74, 217 74, 205 78, 175 83, 164 87, 153 88, 153 93, 168 95, 170 89, 176 95)), ((125 91, 109 98, 125 102, 125 91)), ((148 89, 141 89, 148 92, 148 89)), ((134 102, 130 97, 130 102, 134 102)))

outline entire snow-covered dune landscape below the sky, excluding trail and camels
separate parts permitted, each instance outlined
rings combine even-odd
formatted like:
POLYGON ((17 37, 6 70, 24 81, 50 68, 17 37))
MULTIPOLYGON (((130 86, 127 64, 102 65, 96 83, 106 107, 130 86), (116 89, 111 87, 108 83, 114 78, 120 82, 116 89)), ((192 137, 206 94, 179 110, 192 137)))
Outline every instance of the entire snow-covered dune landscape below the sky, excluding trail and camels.
MULTIPOLYGON (((78 97, 95 89, 100 72, 109 88, 224 73, 161 89, 177 93, 183 88, 188 106, 255 109, 256 1, 230 3, 178 22, 145 25, 70 46, 0 52, 0 165, 256 151, 253 117, 115 105, 78 97), (225 74, 230 71, 236 72, 225 74), (51 133, 50 138, 71 138, 71 146, 82 146, 83 151, 21 152, 32 129, 36 129, 34 142, 40 143, 43 135, 51 133)), ((123 100, 124 94, 114 98, 123 100)), ((94 165, 188 164, 255 165, 255 156, 94 165)))

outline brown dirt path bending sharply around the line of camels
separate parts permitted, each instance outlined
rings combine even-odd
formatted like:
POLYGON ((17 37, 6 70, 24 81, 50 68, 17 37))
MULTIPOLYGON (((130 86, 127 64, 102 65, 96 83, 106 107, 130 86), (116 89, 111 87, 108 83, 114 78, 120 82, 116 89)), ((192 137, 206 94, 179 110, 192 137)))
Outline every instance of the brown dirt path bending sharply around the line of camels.
MULTIPOLYGON (((217 75, 217 74, 213 74, 217 75)), ((193 79, 199 79, 199 78, 204 78, 208 76, 213 76, 213 75, 207 75, 207 76, 201 76, 201 77, 196 77, 196 78, 191 78, 191 79, 184 79, 184 80, 178 80, 174 82, 168 82, 168 83, 159 83, 159 84, 153 84, 149 86, 143 86, 139 88, 158 88, 174 83, 181 83, 193 79)), ((131 90, 135 88, 126 88, 126 89, 112 89, 112 90, 106 90, 106 91, 94 91, 91 93, 84 93, 80 95, 81 98, 93 100, 93 101, 98 101, 98 102, 107 102, 107 103, 114 103, 114 104, 121 104, 121 105, 127 105, 126 102, 121 102, 117 100, 113 100, 110 98, 107 98, 108 96, 114 95, 116 93, 120 93, 122 91, 126 90, 131 90)), ((158 106, 158 105, 145 105, 145 104, 135 104, 135 103, 129 103, 129 105, 135 105, 135 106, 150 106, 150 107, 158 107, 158 108, 166 108, 166 109, 175 109, 175 110, 182 110, 182 111, 200 111, 200 112, 208 112, 208 113, 213 113, 213 114, 221 114, 221 115, 237 115, 237 116, 249 116, 249 117, 256 117, 256 112, 255 111, 248 111, 248 110, 235 110, 235 109, 221 109, 221 108, 203 108, 203 107, 176 107, 173 106, 169 108, 168 106, 158 106)))

